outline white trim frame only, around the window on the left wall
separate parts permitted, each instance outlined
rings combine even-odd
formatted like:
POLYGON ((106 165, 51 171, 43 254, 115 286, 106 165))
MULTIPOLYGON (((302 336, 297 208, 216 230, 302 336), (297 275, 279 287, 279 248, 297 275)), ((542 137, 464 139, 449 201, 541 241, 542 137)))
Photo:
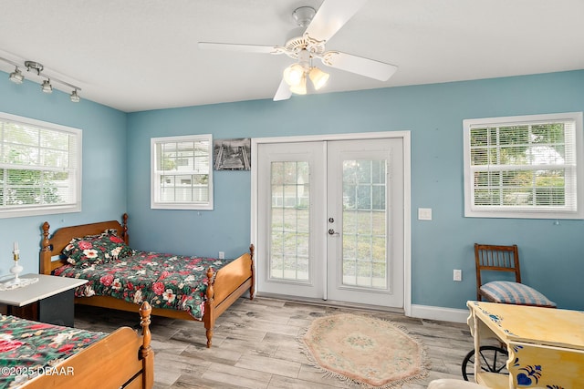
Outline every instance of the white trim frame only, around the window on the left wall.
MULTIPOLYGON (((6 218, 19 218, 28 216, 40 216, 40 215, 50 215, 59 213, 71 213, 81 211, 81 200, 82 200, 82 162, 83 162, 83 132, 79 128, 72 128, 68 126, 63 126, 57 123, 51 123, 43 120, 37 120, 34 118, 25 118, 17 115, 12 115, 5 112, 0 112, 0 121, 13 122, 17 124, 22 124, 25 126, 35 127, 35 128, 46 128, 48 130, 67 132, 73 134, 76 140, 76 164, 75 168, 72 168, 73 177, 73 199, 70 204, 58 204, 58 205, 32 205, 25 206, 22 208, 12 208, 3 209, 0 207, 0 219, 6 218)), ((0 139, 1 140, 1 139, 0 139)), ((1 145, 2 143, 0 143, 1 145)), ((71 152, 69 151, 69 155, 71 152)))

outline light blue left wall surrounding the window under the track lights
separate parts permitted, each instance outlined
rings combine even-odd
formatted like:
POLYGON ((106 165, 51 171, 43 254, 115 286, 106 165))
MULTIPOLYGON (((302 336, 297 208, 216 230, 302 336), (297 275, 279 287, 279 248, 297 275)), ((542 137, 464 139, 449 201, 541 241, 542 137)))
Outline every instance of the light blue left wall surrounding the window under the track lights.
POLYGON ((13 265, 13 242, 18 241, 24 272, 38 271, 41 224, 51 230, 99 220, 120 220, 126 211, 126 114, 68 94, 42 93, 31 81, 16 85, 0 72, 0 111, 35 118, 83 131, 82 210, 78 213, 0 219, 0 276, 13 265))

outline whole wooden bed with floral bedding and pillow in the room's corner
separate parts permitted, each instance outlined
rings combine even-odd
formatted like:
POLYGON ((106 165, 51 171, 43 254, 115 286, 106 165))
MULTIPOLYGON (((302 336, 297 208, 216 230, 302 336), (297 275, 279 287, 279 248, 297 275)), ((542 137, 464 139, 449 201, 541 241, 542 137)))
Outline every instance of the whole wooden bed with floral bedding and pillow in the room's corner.
MULTIPOLYGON (((77 304, 137 312, 141 301, 148 301, 153 315, 203 322, 206 346, 211 347, 215 320, 245 292, 249 292, 250 299, 254 298, 253 244, 249 252, 233 260, 147 251, 128 253, 127 250, 131 249, 127 214, 123 215, 121 224, 117 220, 110 220, 63 227, 52 236, 49 228, 47 222, 43 223, 40 272, 90 280, 76 290, 77 304), (98 253, 113 252, 119 258, 98 264, 89 261, 86 267, 69 262, 74 257, 72 252, 89 252, 81 250, 85 237, 93 239, 104 234, 110 234, 107 236, 111 241, 119 240, 116 244, 121 249, 119 247, 113 251, 108 246, 106 249, 98 248, 98 253), (63 251, 70 248, 72 242, 76 242, 77 246, 72 251, 66 251, 69 255, 67 258, 63 251), (125 252, 123 258, 122 252, 125 252), (106 273, 99 275, 94 271, 106 273), (136 294, 140 295, 137 297, 136 294)), ((98 247, 95 243, 94 246, 98 247)), ((81 261, 87 259, 85 255, 81 261)))

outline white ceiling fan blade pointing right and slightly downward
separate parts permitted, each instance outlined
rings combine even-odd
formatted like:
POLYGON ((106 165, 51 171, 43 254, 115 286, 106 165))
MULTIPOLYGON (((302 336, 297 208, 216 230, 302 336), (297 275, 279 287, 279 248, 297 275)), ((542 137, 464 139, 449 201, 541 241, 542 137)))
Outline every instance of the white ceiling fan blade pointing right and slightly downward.
POLYGON ((339 51, 327 51, 319 56, 323 64, 361 76, 387 81, 398 67, 362 56, 353 56, 339 51))

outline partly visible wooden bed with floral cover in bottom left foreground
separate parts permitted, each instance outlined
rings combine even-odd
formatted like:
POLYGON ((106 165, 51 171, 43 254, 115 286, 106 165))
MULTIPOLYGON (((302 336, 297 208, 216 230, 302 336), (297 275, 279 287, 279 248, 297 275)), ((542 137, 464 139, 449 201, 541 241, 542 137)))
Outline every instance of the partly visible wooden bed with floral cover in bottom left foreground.
POLYGON ((142 334, 129 327, 94 333, 0 314, 1 388, 151 388, 151 307, 140 309, 142 334))

